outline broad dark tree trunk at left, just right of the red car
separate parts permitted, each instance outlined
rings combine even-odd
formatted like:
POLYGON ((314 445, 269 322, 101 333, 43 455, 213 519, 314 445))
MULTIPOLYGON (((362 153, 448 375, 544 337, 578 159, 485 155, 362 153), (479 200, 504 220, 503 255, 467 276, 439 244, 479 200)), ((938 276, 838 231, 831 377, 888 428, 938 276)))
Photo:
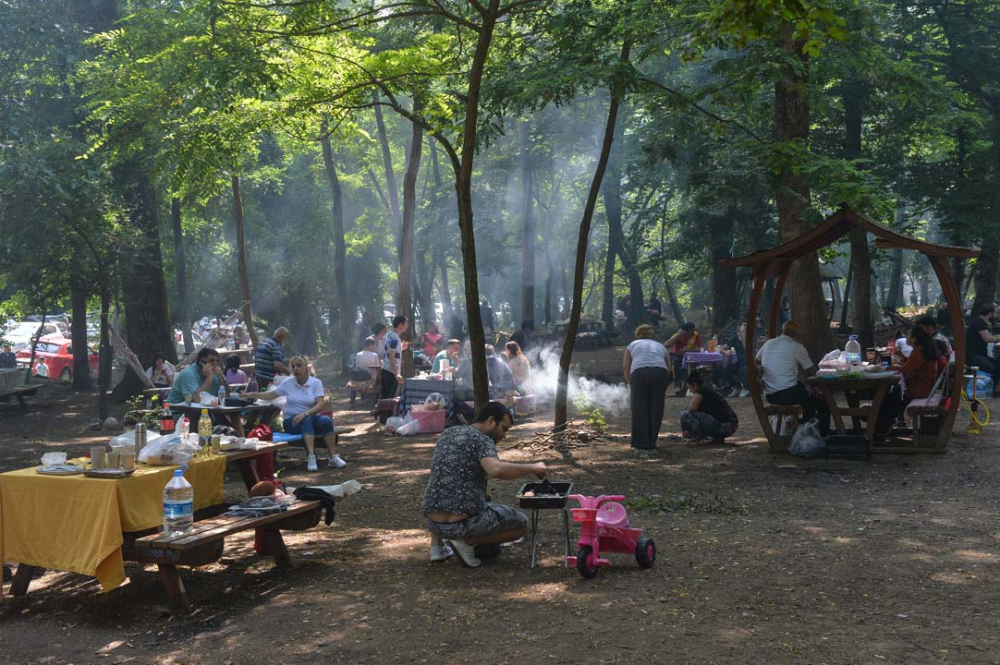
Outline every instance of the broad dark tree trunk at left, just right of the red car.
MULTIPOLYGON (((143 367, 162 353, 176 362, 176 348, 167 312, 167 288, 163 279, 160 252, 160 223, 156 189, 142 166, 136 162, 116 169, 129 220, 137 232, 137 246, 122 253, 122 292, 125 299, 125 332, 129 348, 143 367)), ((138 395, 143 383, 134 372, 125 372, 115 388, 118 401, 138 395)))

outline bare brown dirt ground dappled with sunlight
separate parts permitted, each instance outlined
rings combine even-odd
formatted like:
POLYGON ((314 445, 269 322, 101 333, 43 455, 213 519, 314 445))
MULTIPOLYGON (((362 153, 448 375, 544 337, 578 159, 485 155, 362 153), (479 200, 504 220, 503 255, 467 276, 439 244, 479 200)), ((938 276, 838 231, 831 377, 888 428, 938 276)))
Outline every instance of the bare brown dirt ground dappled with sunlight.
MULTIPOLYGON (((585 361, 613 368, 617 353, 585 361)), ((625 494, 656 541, 652 569, 611 555, 584 580, 561 565, 555 513, 534 570, 525 544, 477 570, 429 562, 419 507, 434 437, 377 432, 338 395, 338 424, 357 428, 342 439, 349 466, 307 474, 293 451, 279 467, 293 485, 364 490, 330 527, 286 535, 293 569, 233 537, 219 563, 182 571, 197 608, 183 619, 154 566, 128 565, 107 594, 50 571, 27 602, 0 603, 0 663, 1000 663, 996 425, 970 436, 960 417, 945 455, 807 461, 767 452, 749 399, 733 400, 734 445, 680 441, 682 399, 668 399, 652 454, 630 450, 627 415, 611 417, 612 436, 534 458, 582 493, 625 494)), ((92 402, 49 386, 27 409, 0 404, 0 470, 106 440, 87 430, 92 402)), ((518 423, 502 456, 530 459, 517 445, 547 418, 518 423)), ((520 484, 491 492, 512 503, 520 484)), ((227 474, 227 498, 244 493, 227 474)))

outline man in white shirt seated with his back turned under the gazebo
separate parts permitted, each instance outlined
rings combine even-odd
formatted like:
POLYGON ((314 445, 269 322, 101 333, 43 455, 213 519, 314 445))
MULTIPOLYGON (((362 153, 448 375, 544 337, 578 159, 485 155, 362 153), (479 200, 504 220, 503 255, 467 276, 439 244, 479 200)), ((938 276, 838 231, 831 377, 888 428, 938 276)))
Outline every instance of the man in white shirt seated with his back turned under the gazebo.
POLYGON ((830 433, 830 409, 826 400, 810 393, 799 379, 799 372, 806 376, 816 373, 816 366, 809 352, 799 341, 799 324, 786 321, 781 335, 764 342, 757 352, 757 365, 764 381, 764 397, 771 404, 798 404, 806 420, 819 420, 820 433, 830 433))

